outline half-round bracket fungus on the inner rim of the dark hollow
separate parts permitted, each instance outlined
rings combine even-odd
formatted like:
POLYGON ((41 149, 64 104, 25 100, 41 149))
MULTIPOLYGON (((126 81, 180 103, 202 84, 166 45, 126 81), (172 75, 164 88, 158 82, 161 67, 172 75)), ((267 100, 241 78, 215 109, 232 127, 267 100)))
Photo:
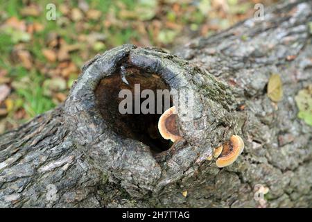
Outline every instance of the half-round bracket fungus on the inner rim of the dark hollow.
POLYGON ((179 130, 177 129, 175 106, 166 110, 159 118, 158 130, 164 139, 171 139, 172 142, 181 139, 179 130))

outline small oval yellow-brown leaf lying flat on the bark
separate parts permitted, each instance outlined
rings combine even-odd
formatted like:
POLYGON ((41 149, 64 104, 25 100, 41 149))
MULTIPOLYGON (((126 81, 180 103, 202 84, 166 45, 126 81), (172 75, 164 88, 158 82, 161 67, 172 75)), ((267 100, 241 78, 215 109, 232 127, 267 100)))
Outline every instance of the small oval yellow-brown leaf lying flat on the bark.
POLYGON ((281 101, 283 97, 283 86, 281 85, 281 77, 278 74, 272 74, 268 81, 268 97, 274 101, 281 101))

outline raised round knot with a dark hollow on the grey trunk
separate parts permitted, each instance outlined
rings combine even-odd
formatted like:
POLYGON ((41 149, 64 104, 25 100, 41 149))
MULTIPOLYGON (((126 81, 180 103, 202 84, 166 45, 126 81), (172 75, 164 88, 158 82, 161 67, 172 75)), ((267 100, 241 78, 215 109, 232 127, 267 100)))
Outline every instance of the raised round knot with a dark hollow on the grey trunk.
POLYGON ((123 45, 96 56, 82 70, 65 103, 71 137, 94 167, 132 196, 193 175, 215 146, 240 133, 236 115, 229 115, 235 112, 232 89, 159 49, 123 45), (126 113, 120 110, 122 90, 131 96, 126 113), (178 110, 182 139, 173 144, 157 129, 166 110, 162 99, 178 110), (144 104, 152 112, 141 110, 144 104))

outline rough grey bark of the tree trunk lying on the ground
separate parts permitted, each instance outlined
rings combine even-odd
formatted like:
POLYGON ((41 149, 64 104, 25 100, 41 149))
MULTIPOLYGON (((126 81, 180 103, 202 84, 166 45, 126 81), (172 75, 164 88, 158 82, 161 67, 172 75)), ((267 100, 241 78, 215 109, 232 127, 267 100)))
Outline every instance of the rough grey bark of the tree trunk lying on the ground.
POLYGON ((0 136, 0 207, 311 207, 312 128, 294 100, 312 83, 311 21, 311 1, 287 1, 177 56, 132 45, 96 56, 64 105, 0 136), (121 67, 130 83, 196 92, 181 141, 150 139, 157 116, 116 112, 121 67), (279 103, 266 95, 272 73, 279 103), (207 157, 233 134, 245 150, 219 169, 207 157))

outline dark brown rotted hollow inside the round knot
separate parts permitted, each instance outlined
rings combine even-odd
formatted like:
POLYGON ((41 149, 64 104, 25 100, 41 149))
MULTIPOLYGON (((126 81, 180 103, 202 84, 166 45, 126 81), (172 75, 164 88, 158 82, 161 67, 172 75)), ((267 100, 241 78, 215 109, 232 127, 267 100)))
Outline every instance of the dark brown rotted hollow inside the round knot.
MULTIPOLYGON (((128 67, 125 70, 125 80, 122 80, 120 72, 101 80, 96 88, 96 102, 107 125, 118 135, 136 139, 150 146, 153 153, 168 150, 172 142, 162 138, 157 128, 159 117, 164 110, 164 97, 162 102, 162 113, 157 114, 157 89, 169 89, 162 78, 156 74, 148 74, 135 67, 128 67), (128 85, 126 84, 128 82, 128 85), (155 94, 155 114, 135 114, 135 84, 140 85, 140 92, 144 89, 151 89, 155 94), (121 89, 130 89, 132 92, 132 114, 121 114, 119 103, 124 98, 119 98, 121 89)), ((139 96, 140 97, 140 96, 139 96)), ((146 98, 140 98, 141 103, 146 98)), ((170 106, 172 106, 170 98, 170 106)))

